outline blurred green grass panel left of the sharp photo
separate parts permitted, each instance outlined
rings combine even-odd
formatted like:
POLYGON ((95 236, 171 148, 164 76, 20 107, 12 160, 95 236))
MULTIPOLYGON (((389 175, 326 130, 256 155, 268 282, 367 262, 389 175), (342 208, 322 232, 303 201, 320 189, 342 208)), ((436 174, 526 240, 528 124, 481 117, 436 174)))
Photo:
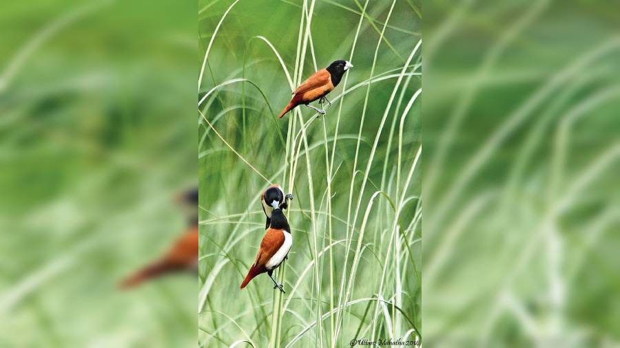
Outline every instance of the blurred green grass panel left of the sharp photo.
POLYGON ((196 5, 0 11, 0 347, 196 344, 196 280, 116 284, 185 228, 196 5))

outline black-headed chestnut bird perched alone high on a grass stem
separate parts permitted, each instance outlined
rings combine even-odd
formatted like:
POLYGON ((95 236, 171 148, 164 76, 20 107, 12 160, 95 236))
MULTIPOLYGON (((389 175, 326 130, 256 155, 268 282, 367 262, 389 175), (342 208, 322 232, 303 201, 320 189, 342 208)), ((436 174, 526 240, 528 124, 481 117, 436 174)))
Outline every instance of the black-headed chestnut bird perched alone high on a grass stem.
POLYGON ((340 83, 342 79, 342 75, 351 67, 353 67, 353 65, 347 61, 334 61, 329 67, 320 69, 318 72, 312 74, 312 76, 305 80, 304 83, 293 92, 293 99, 291 99, 289 105, 282 110, 278 118, 282 118, 282 116, 285 116, 285 113, 291 111, 298 105, 306 105, 321 115, 324 115, 324 110, 317 109, 310 105, 310 103, 319 100, 322 107, 323 100, 325 100, 331 105, 331 102, 329 102, 326 97, 327 94, 338 86, 338 83, 340 83))

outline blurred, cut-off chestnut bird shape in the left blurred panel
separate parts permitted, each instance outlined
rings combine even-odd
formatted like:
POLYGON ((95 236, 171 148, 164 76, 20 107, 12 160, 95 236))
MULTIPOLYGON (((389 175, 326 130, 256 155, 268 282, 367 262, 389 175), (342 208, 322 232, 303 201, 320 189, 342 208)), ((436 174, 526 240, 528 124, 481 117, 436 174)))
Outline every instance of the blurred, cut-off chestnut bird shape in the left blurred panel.
POLYGON ((185 191, 176 198, 181 206, 192 210, 187 229, 163 257, 125 278, 121 288, 128 289, 172 272, 198 271, 198 188, 185 191))

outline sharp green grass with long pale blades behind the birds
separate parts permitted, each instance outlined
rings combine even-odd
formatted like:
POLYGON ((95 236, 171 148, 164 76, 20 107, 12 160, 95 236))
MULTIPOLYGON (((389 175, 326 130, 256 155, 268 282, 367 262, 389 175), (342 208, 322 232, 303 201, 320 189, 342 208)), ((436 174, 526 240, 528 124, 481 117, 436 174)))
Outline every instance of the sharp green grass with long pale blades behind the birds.
POLYGON ((421 337, 420 1, 200 0, 198 21, 200 347, 421 337), (354 67, 327 116, 277 120, 337 59, 354 67), (295 195, 283 296, 266 275, 239 290, 269 182, 295 195))

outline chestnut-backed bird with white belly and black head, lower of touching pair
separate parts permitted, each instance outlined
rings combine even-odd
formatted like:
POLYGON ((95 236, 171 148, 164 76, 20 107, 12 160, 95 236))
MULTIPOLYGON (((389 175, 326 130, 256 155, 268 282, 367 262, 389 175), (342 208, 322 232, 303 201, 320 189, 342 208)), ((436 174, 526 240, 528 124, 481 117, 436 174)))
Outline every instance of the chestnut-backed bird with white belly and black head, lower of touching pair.
POLYGON ((278 208, 278 202, 274 202, 271 224, 267 231, 265 231, 265 237, 262 237, 256 261, 254 261, 254 264, 247 272, 247 276, 245 276, 240 288, 243 289, 258 274, 267 272, 267 275, 275 284, 273 289, 277 287, 281 292, 285 292, 282 284, 278 284, 271 274, 287 258, 292 245, 293 237, 291 236, 289 221, 282 213, 282 208, 278 208))

